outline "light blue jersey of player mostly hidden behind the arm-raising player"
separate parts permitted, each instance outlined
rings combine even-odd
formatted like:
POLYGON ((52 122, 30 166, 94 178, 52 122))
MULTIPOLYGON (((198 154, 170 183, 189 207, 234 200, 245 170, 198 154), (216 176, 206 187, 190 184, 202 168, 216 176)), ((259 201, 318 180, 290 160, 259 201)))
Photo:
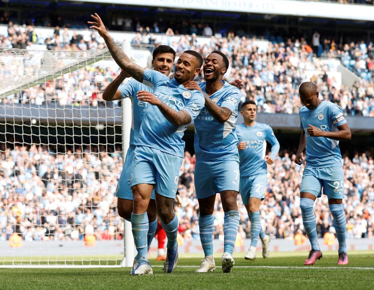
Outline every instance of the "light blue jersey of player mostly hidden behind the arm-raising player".
POLYGON ((122 99, 130 98, 132 103, 132 123, 130 132, 130 146, 135 149, 138 144, 140 125, 143 121, 144 111, 147 107, 147 102, 142 102, 137 99, 137 92, 145 90, 153 92, 153 87, 148 87, 145 84, 139 83, 134 78, 129 80, 126 84, 119 86, 122 99))

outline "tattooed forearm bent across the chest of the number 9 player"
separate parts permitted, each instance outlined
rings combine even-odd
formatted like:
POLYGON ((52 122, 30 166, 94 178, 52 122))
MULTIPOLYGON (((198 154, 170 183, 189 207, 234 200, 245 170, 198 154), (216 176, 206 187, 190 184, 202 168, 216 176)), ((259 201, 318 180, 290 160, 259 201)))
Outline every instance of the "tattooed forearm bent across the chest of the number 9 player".
POLYGON ((175 126, 191 123, 191 116, 186 110, 175 111, 150 92, 144 90, 139 91, 137 93, 137 98, 142 102, 148 102, 151 105, 157 106, 166 120, 175 126))

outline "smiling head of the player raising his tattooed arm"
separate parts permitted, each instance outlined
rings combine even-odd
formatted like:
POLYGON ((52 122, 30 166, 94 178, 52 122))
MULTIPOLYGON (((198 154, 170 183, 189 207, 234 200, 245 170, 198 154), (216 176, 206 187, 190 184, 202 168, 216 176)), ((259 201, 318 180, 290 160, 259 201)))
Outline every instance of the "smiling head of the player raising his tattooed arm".
POLYGON ((175 80, 182 84, 193 80, 200 72, 198 60, 189 53, 182 53, 175 65, 175 80))

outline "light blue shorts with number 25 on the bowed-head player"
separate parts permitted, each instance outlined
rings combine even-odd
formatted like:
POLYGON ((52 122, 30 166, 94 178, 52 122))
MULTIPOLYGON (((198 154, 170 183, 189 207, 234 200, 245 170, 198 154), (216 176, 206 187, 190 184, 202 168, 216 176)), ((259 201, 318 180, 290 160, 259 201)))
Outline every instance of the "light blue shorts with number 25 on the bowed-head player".
POLYGON ((342 167, 305 167, 300 192, 321 197, 322 188, 328 198, 343 198, 344 173, 342 167))

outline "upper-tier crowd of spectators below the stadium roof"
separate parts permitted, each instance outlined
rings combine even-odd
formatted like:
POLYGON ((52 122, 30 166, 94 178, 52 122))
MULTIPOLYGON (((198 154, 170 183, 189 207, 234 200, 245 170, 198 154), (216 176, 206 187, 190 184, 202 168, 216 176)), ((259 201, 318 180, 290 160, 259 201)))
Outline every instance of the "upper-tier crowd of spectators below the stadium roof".
MULTIPOLYGON (((317 33, 318 34, 318 33, 317 33)), ((46 36, 45 36, 46 37, 46 36)), ((32 26, 19 27, 9 25, 8 36, 0 37, 1 47, 24 48, 27 43, 39 41, 32 26)), ((44 40, 51 50, 86 50, 105 47, 105 43, 97 33, 86 28, 71 34, 67 28, 55 28, 51 37, 44 40)), ((231 36, 217 38, 199 44, 196 35, 171 35, 137 33, 131 40, 133 44, 166 44, 173 47, 178 56, 184 50, 194 49, 202 56, 213 50, 220 50, 229 56, 231 68, 226 74, 227 80, 240 78, 243 80, 242 101, 254 99, 260 112, 287 114, 297 113, 301 104, 297 89, 303 81, 314 81, 319 88, 320 96, 340 105, 346 115, 374 116, 374 96, 372 72, 374 70, 373 46, 362 43, 346 44, 338 48, 334 41, 324 46, 324 51, 341 56, 342 62, 351 70, 361 75, 352 87, 341 85, 334 76, 329 77, 328 65, 313 61, 313 49, 318 53, 318 43, 313 36, 309 45, 303 38, 288 39, 281 43, 266 42, 261 47, 256 38, 231 36)), ((60 105, 86 106, 98 105, 101 94, 108 83, 118 74, 118 68, 93 67, 82 68, 58 77, 49 83, 31 87, 21 93, 22 102, 56 102, 60 105)), ((6 66, 3 66, 3 74, 6 66)), ((203 75, 200 73, 200 80, 203 75)), ((17 98, 9 98, 10 101, 17 98)), ((117 105, 116 103, 114 105, 117 105)))

